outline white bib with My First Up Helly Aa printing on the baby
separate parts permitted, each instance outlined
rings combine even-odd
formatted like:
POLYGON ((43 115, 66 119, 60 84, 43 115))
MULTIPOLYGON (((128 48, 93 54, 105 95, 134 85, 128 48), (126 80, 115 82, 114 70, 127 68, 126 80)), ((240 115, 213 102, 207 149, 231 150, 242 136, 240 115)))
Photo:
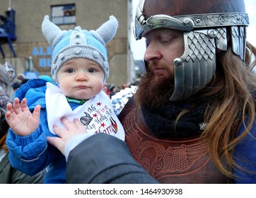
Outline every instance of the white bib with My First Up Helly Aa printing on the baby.
POLYGON ((52 129, 54 124, 65 129, 60 122, 61 117, 67 117, 72 122, 74 118, 78 118, 88 133, 110 134, 124 141, 124 128, 115 115, 110 98, 104 91, 72 110, 60 88, 47 83, 45 103, 48 127, 52 134, 55 134, 52 129))

